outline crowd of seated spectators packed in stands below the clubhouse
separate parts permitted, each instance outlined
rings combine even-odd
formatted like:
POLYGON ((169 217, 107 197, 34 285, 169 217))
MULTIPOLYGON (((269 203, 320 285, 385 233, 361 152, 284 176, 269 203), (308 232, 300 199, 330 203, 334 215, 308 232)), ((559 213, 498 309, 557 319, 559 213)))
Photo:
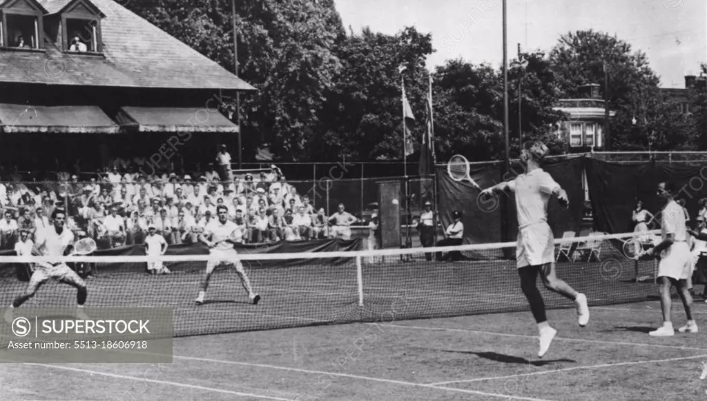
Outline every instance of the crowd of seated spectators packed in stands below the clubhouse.
POLYGON ((170 245, 194 243, 216 220, 218 205, 228 208, 243 244, 351 238, 349 226, 356 217, 343 205, 332 216, 324 208, 315 210, 310 197, 300 196, 277 167, 230 177, 121 174, 114 167, 88 182, 59 174, 49 186, 0 183, 0 246, 13 249, 20 232, 34 238, 52 224, 55 208, 66 210, 66 225, 77 238, 91 237, 100 249, 143 244, 152 225, 170 245))

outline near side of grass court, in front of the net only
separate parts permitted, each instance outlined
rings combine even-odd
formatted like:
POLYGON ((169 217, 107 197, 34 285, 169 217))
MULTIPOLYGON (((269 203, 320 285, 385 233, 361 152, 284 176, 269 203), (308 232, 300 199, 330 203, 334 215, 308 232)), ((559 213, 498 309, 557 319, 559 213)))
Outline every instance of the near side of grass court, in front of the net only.
MULTIPOLYGON (((700 323, 707 308, 696 310, 700 323)), ((4 400, 707 397, 699 381, 704 332, 648 336, 660 321, 655 301, 591 311, 585 329, 573 310, 549 311, 559 336, 540 361, 530 313, 499 313, 183 337, 173 364, 0 364, 0 380, 4 400)))

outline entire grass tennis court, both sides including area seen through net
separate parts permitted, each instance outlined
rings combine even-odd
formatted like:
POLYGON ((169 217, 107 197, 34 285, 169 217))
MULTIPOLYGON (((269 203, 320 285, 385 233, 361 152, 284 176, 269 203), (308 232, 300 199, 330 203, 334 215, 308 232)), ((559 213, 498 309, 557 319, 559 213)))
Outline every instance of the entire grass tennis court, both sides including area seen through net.
MULTIPOLYGON (((559 277, 588 296, 587 328, 578 327, 571 301, 542 290, 559 330, 542 360, 513 261, 369 260, 363 307, 356 263, 251 268, 263 297, 257 306, 229 270, 213 277, 203 306, 193 302, 199 268, 164 276, 99 270, 87 306, 173 308, 174 363, 0 364, 1 398, 705 399, 706 332, 650 337, 661 321, 657 289, 634 282, 633 261, 605 245, 604 262, 558 265, 559 277)), ((640 270, 652 273, 653 262, 640 270)), ((25 283, 4 277, 0 302, 9 303, 25 283)), ((70 306, 74 297, 74 289, 47 285, 28 307, 70 306)), ((707 304, 695 307, 703 325, 707 304)), ((677 328, 684 313, 679 302, 673 310, 677 328)))

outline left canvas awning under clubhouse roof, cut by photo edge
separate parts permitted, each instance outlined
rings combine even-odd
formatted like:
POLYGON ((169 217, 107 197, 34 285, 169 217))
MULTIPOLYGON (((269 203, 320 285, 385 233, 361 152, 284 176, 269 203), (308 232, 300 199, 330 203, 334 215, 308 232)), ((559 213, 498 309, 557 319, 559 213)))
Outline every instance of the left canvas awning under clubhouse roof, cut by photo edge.
POLYGON ((5 133, 118 133, 120 126, 98 106, 33 106, 0 103, 5 133))

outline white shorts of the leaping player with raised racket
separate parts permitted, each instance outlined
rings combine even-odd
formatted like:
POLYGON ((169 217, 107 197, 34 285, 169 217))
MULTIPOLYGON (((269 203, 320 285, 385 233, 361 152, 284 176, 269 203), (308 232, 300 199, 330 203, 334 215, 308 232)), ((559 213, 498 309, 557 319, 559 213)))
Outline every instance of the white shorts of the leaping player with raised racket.
POLYGON ((547 222, 538 222, 518 230, 515 251, 517 267, 544 265, 555 261, 555 237, 547 222))

